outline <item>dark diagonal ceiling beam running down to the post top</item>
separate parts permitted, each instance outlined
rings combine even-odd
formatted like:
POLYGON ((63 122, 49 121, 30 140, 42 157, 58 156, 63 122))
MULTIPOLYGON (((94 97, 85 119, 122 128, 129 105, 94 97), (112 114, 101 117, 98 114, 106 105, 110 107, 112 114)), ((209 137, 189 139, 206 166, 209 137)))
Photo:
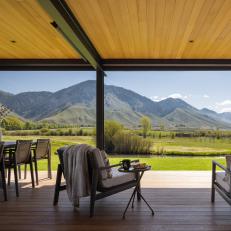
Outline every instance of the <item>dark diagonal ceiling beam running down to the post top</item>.
POLYGON ((94 69, 102 68, 102 59, 75 18, 65 0, 38 0, 52 18, 53 26, 94 69))

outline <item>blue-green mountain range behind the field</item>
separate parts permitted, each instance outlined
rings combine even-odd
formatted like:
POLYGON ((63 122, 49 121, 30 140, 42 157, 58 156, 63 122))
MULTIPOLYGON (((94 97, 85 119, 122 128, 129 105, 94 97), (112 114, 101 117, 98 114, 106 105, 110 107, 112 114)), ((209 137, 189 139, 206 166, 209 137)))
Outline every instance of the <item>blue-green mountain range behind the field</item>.
MULTIPOLYGON (((59 124, 95 124, 96 82, 89 80, 57 92, 0 91, 0 103, 15 114, 33 121, 59 124)), ((231 113, 199 110, 181 99, 151 99, 122 87, 105 85, 105 119, 114 119, 128 127, 137 127, 143 115, 154 126, 168 128, 231 129, 231 113)))

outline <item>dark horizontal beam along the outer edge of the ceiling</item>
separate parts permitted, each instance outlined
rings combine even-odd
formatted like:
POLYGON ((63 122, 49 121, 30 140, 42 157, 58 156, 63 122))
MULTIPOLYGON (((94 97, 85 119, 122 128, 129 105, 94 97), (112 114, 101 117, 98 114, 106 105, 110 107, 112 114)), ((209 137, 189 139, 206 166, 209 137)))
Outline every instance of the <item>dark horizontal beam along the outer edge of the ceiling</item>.
MULTIPOLYGON (((105 71, 231 71, 231 59, 105 59, 105 71)), ((0 59, 0 70, 91 71, 81 59, 0 59)))

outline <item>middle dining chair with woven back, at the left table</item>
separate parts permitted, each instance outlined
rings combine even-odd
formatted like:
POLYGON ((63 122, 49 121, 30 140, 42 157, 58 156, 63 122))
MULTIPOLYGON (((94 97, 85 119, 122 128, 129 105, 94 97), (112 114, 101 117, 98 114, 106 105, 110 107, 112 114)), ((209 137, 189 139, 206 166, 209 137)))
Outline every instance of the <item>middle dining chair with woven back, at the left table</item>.
POLYGON ((15 150, 10 150, 9 159, 5 161, 5 166, 8 169, 8 185, 10 185, 11 169, 14 169, 15 190, 17 197, 19 196, 18 167, 20 165, 30 165, 32 187, 35 187, 31 155, 31 144, 31 140, 17 140, 15 150))

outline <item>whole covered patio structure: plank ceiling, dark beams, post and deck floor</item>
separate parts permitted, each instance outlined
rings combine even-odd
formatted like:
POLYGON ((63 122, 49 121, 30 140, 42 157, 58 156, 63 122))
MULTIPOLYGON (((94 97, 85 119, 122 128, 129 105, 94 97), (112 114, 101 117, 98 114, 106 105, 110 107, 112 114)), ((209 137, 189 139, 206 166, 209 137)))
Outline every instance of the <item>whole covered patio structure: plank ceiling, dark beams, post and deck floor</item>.
MULTIPOLYGON (((104 77, 108 71, 231 70, 231 1, 2 0, 0 71, 95 71, 96 144, 104 148, 104 77)), ((221 76, 222 77, 222 76, 221 76)), ((167 84, 167 83, 166 83, 167 84)), ((42 174, 42 173, 41 173, 42 174)), ((210 172, 146 174, 142 203, 122 211, 130 190, 73 211, 55 174, 0 202, 0 230, 231 230, 231 207, 210 202, 210 172)))

